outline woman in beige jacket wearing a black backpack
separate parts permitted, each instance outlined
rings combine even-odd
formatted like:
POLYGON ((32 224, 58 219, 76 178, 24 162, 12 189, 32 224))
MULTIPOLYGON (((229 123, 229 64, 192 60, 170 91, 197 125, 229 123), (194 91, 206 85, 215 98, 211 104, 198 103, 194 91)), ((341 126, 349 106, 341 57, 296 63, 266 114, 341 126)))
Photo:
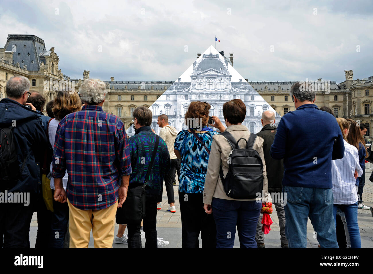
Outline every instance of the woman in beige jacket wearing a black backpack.
POLYGON ((242 125, 245 104, 234 99, 223 105, 226 129, 217 117, 203 192, 204 209, 213 213, 217 248, 233 248, 236 226, 241 248, 257 248, 256 227, 267 198, 263 139, 242 125), (241 139, 242 138, 242 139, 241 139))

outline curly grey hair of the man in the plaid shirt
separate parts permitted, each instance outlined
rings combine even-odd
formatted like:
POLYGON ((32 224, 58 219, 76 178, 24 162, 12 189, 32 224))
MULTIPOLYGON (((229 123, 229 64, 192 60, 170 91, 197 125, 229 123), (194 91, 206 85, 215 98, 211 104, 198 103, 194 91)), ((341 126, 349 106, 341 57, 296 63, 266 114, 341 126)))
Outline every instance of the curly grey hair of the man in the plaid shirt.
POLYGON ((84 103, 97 105, 105 98, 106 85, 100 79, 87 79, 79 87, 80 98, 84 103))

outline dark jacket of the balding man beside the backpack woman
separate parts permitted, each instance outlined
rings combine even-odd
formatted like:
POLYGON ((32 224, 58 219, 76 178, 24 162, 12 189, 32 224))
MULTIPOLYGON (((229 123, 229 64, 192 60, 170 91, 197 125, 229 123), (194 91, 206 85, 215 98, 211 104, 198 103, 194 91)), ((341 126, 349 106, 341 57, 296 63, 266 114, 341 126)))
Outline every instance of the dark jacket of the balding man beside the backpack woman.
POLYGON ((258 136, 264 139, 263 152, 267 167, 269 193, 282 192, 283 160, 275 160, 269 155, 276 132, 276 127, 268 124, 257 133, 258 136))

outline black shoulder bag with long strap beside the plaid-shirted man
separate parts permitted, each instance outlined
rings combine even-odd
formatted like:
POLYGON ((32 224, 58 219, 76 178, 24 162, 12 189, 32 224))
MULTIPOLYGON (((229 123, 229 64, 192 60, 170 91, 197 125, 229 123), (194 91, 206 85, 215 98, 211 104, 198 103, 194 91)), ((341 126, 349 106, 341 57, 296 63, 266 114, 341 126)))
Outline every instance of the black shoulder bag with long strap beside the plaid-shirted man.
POLYGON ((122 207, 117 209, 117 224, 140 224, 141 220, 145 218, 146 184, 150 177, 150 171, 153 167, 154 158, 156 157, 158 144, 159 136, 156 135, 156 143, 154 144, 153 155, 151 155, 150 164, 145 176, 145 182, 144 184, 129 184, 126 201, 123 203, 122 207))

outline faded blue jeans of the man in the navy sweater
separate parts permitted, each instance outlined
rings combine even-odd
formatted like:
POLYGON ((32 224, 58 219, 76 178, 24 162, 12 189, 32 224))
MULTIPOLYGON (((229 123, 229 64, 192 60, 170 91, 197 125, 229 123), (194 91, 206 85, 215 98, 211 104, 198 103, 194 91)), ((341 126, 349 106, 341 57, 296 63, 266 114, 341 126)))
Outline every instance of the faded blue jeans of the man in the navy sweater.
POLYGON ((338 248, 333 223, 333 193, 331 188, 283 186, 286 193, 285 233, 289 248, 307 248, 307 216, 322 248, 338 248))

